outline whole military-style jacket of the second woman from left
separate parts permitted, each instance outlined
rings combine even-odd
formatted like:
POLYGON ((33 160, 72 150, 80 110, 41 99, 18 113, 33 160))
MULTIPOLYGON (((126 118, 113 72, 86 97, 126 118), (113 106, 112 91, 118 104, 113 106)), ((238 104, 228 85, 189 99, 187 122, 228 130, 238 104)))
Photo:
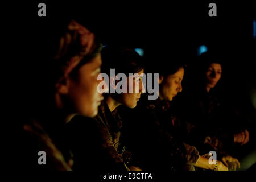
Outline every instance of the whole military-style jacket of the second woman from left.
POLYGON ((122 121, 117 110, 110 112, 105 101, 96 117, 76 115, 66 128, 74 170, 127 171, 120 143, 122 121))

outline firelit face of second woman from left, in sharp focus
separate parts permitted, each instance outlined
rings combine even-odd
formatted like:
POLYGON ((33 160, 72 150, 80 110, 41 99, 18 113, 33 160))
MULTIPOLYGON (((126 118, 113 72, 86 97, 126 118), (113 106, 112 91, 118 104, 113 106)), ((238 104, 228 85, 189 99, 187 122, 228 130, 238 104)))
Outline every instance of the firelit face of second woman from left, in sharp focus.
MULTIPOLYGON (((144 73, 144 69, 142 71, 138 72, 138 75, 141 75, 144 73)), ((139 98, 141 97, 141 93, 145 92, 144 85, 142 83, 142 77, 138 76, 133 79, 133 90, 131 90, 131 86, 129 86, 129 77, 127 77, 127 90, 129 90, 128 93, 122 93, 121 97, 119 98, 119 102, 129 108, 134 108, 137 105, 137 102, 139 101, 139 98), (135 90, 137 89, 137 92, 135 90)))

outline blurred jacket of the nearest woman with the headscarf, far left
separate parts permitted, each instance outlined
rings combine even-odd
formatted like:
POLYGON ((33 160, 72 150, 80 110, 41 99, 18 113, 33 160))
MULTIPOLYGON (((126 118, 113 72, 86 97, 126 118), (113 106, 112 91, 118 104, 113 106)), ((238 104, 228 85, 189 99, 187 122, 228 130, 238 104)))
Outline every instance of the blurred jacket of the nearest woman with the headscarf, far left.
POLYGON ((55 140, 35 119, 23 125, 22 147, 24 170, 70 171, 72 157, 64 158, 55 140), (40 152, 40 153, 39 153, 40 152), (43 152, 43 153, 42 153, 43 152), (46 160, 44 160, 44 156, 46 160), (46 163, 44 163, 44 161, 46 163))

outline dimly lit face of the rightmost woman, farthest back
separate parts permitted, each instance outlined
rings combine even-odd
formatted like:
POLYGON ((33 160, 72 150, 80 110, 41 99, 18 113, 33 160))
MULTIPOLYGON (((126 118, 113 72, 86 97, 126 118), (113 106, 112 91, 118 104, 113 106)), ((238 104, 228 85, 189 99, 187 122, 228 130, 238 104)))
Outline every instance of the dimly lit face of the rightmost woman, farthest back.
POLYGON ((221 65, 218 63, 211 63, 207 72, 205 72, 206 86, 208 88, 214 88, 217 82, 221 78, 221 65))

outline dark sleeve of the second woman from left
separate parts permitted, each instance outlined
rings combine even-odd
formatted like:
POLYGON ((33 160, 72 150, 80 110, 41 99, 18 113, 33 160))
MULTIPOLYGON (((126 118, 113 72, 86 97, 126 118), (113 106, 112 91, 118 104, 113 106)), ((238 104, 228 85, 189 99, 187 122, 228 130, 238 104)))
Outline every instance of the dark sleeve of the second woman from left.
POLYGON ((108 130, 98 119, 73 118, 68 131, 74 170, 127 171, 108 130))

